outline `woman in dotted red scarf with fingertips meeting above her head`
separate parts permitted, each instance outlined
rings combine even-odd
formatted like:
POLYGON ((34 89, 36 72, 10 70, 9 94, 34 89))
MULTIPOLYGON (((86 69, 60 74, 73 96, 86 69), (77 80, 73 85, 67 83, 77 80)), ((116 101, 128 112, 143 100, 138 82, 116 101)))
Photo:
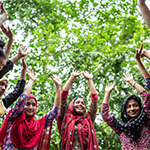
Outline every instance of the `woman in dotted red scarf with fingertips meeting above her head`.
POLYGON ((61 150, 98 150, 98 143, 94 130, 94 121, 98 107, 98 96, 92 75, 88 72, 72 72, 62 93, 60 116, 57 118, 58 129, 61 134, 61 150), (91 91, 91 104, 86 113, 83 97, 74 98, 67 104, 69 89, 73 80, 81 74, 87 79, 91 91))

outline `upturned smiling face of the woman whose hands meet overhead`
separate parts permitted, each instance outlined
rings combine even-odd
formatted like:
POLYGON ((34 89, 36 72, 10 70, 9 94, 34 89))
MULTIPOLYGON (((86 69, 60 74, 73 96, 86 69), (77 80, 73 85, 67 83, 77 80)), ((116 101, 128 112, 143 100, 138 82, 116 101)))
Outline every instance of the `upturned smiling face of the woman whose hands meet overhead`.
POLYGON ((74 109, 78 114, 83 115, 85 113, 85 102, 82 98, 77 98, 74 102, 74 109))

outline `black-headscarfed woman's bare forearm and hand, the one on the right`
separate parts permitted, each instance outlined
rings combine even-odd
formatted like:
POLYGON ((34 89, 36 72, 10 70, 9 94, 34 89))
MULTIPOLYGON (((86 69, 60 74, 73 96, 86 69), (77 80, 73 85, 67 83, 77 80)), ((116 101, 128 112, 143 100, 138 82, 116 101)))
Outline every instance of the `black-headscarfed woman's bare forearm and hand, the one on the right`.
POLYGON ((131 86, 133 86, 138 91, 139 94, 145 91, 145 89, 141 85, 139 85, 134 81, 133 76, 130 75, 129 73, 126 73, 123 79, 124 81, 128 82, 131 86))

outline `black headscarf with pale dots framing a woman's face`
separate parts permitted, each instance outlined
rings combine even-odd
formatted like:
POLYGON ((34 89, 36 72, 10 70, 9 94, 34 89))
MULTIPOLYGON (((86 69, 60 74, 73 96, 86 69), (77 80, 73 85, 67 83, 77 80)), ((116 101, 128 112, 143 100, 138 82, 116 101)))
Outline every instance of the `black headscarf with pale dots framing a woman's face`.
POLYGON ((132 143, 132 141, 136 140, 140 136, 139 131, 146 119, 146 113, 144 111, 142 101, 138 96, 131 95, 124 100, 123 105, 121 107, 121 119, 123 122, 115 118, 117 126, 122 131, 124 131, 126 135, 130 137, 130 142, 132 143), (133 117, 133 118, 130 118, 126 114, 126 105, 128 101, 131 99, 134 99, 139 104, 141 110, 140 114, 137 117, 133 117))

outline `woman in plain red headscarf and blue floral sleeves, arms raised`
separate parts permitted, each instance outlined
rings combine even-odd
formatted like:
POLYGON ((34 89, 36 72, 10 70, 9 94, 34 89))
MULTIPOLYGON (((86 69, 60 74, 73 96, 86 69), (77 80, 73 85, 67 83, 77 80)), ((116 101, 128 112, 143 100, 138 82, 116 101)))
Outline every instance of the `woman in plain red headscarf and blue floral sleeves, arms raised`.
POLYGON ((47 150, 50 145, 52 121, 57 117, 61 101, 61 80, 52 76, 56 85, 54 107, 40 119, 34 119, 37 99, 31 95, 36 81, 33 71, 28 70, 29 82, 17 103, 9 111, 0 129, 0 146, 3 150, 39 149, 47 150))

